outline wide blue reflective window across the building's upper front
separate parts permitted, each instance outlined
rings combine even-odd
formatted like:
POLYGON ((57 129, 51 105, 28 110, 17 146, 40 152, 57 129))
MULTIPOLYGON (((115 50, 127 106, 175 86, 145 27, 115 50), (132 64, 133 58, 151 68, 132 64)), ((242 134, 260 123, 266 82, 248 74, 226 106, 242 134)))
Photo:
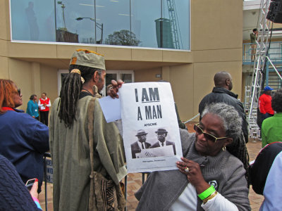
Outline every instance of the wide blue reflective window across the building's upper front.
POLYGON ((190 0, 10 0, 13 41, 190 49, 190 0))

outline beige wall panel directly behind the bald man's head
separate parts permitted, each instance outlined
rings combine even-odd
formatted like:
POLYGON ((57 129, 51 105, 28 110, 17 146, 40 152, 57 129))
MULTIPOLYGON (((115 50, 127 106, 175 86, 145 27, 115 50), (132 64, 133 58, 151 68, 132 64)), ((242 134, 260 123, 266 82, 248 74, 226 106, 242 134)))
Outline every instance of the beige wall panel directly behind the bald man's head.
POLYGON ((195 63, 194 64, 194 105, 195 112, 198 111, 202 98, 212 92, 214 88, 214 75, 219 71, 227 71, 233 78, 233 89, 235 94, 241 98, 242 90, 242 65, 240 62, 223 63, 195 63))

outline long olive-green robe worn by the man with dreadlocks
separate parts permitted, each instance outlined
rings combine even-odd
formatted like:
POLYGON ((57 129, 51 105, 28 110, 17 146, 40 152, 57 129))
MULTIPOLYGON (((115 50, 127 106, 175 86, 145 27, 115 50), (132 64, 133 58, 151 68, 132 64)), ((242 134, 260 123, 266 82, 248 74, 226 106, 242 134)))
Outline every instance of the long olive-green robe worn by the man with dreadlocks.
MULTIPOLYGON (((54 168, 54 211, 86 211, 90 196, 90 148, 87 108, 92 96, 78 101, 76 120, 66 128, 59 119, 60 98, 54 101, 49 143, 54 168)), ((127 174, 123 139, 114 122, 106 123, 99 101, 94 103, 94 171, 118 184, 127 174)))

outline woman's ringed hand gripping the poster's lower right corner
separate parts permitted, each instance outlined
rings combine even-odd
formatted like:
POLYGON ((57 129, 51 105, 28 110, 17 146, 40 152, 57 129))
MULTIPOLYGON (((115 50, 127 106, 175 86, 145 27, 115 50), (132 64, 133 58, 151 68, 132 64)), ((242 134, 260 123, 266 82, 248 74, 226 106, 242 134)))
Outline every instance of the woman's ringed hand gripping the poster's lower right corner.
POLYGON ((207 183, 207 181, 204 181, 200 165, 197 162, 188 160, 186 158, 181 158, 181 160, 183 160, 183 162, 176 162, 176 166, 180 172, 187 175, 190 183, 195 186, 197 193, 200 194, 207 190, 210 185, 207 183))

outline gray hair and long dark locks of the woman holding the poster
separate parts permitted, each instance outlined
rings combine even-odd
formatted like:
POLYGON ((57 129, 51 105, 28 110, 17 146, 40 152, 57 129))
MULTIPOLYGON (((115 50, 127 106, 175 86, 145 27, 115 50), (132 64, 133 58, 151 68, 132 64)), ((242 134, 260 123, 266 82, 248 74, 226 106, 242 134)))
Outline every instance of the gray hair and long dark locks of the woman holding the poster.
POLYGON ((226 136, 233 138, 232 143, 228 144, 226 149, 229 153, 243 162, 246 170, 245 177, 247 179, 247 185, 249 186, 249 155, 247 153, 247 146, 242 132, 242 118, 233 106, 229 106, 225 103, 209 104, 204 108, 202 117, 207 113, 219 116, 223 121, 224 129, 226 129, 226 136))

